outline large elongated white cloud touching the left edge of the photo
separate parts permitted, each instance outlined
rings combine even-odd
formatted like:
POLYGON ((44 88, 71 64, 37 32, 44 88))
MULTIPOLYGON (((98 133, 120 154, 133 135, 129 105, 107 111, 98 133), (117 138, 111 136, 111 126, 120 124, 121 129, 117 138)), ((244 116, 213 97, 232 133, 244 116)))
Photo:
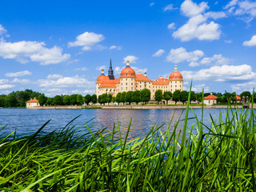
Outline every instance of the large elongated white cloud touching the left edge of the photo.
POLYGON ((18 62, 26 63, 40 62, 41 65, 65 62, 70 58, 70 54, 62 54, 62 48, 54 46, 46 48, 44 42, 5 42, 0 41, 0 57, 13 58, 18 62))

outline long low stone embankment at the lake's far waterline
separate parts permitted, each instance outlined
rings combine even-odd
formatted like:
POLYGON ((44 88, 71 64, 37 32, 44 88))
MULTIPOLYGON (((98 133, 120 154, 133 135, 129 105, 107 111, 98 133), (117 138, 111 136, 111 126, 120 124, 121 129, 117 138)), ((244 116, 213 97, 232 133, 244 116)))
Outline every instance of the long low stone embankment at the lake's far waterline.
MULTIPOLYGON (((241 105, 231 106, 242 109, 241 105)), ((202 105, 190 105, 192 109, 202 109, 202 105)), ((227 105, 203 106, 204 109, 226 109, 227 105)), ((102 109, 102 110, 176 110, 186 109, 186 105, 170 105, 170 106, 35 106, 30 110, 82 110, 82 109, 102 109)), ((254 105, 256 109, 256 105, 254 105)))

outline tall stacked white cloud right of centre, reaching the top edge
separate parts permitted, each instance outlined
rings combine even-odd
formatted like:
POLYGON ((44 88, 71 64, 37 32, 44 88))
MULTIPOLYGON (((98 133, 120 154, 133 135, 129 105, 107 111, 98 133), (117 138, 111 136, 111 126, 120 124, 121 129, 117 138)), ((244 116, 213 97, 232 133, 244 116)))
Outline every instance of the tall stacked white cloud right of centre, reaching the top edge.
POLYGON ((182 2, 182 14, 189 17, 189 20, 181 26, 178 30, 174 31, 172 36, 179 38, 182 42, 188 42, 194 38, 198 40, 216 40, 219 39, 221 30, 220 25, 213 21, 208 21, 209 18, 223 18, 226 17, 224 12, 208 12, 209 9, 206 2, 196 4, 191 0, 182 2))

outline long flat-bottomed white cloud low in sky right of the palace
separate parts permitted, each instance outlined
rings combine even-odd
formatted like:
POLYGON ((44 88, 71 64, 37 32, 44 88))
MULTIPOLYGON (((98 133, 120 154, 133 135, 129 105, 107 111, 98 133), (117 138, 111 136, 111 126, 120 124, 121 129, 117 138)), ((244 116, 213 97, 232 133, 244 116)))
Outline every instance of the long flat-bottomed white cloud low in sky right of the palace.
POLYGON ((198 71, 182 71, 183 78, 196 81, 212 80, 215 82, 226 81, 250 81, 256 78, 256 74, 252 71, 249 65, 223 65, 211 66, 208 69, 198 71))

